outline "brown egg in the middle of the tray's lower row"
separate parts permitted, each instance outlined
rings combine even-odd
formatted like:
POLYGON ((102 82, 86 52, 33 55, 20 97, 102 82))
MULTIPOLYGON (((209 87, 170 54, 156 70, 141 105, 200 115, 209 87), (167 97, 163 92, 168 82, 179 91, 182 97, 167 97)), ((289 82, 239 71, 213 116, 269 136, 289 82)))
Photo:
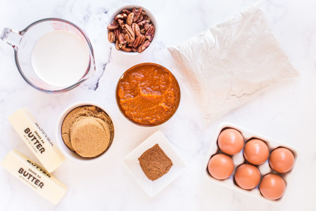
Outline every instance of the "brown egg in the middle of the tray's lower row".
POLYGON ((236 169, 235 181, 240 188, 252 189, 259 184, 260 171, 252 164, 242 164, 236 169))

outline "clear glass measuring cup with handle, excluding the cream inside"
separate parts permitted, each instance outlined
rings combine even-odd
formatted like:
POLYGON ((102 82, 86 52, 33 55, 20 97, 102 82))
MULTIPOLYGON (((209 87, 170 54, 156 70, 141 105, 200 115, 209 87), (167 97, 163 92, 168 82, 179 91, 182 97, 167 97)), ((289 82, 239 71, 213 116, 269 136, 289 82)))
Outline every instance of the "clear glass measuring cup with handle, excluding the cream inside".
POLYGON ((62 93, 71 90, 90 78, 95 72, 94 53, 87 35, 75 24, 59 19, 46 18, 33 22, 22 31, 4 28, 0 39, 8 43, 14 49, 15 64, 22 78, 33 88, 46 93, 62 93), (85 73, 75 83, 58 86, 43 81, 34 71, 31 63, 31 53, 41 36, 52 31, 67 31, 76 35, 89 52, 89 62, 85 73))

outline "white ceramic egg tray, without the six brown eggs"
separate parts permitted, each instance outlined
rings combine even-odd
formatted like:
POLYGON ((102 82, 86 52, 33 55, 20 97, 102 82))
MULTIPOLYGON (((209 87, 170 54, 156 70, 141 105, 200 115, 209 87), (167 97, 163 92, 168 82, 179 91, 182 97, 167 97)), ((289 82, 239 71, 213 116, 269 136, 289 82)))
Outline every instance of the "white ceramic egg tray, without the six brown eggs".
POLYGON ((217 183, 219 185, 222 185, 224 187, 227 187, 227 188, 230 188, 230 189, 233 189, 233 190, 245 193, 247 195, 253 196, 253 197, 258 198, 258 199, 261 199, 261 200, 263 200, 265 202, 269 202, 269 203, 272 203, 272 204, 281 204, 281 203, 284 202, 284 200, 286 199, 286 196, 289 193, 290 185, 291 185, 291 182, 293 180, 293 177, 294 177, 297 165, 299 163, 300 157, 301 157, 300 152, 294 146, 291 146, 289 144, 286 144, 286 143, 283 143, 283 142, 280 142, 280 141, 277 141, 277 140, 274 140, 274 139, 270 139, 270 138, 268 138, 266 136, 263 136, 261 134, 255 133, 255 132, 253 132, 251 130, 248 130, 248 129, 244 128, 244 127, 240 127, 240 126, 235 125, 233 123, 223 122, 216 128, 216 131, 214 133, 214 136, 213 136, 213 139, 212 139, 209 151, 207 152, 207 155, 206 155, 206 158, 205 158, 205 161, 204 161, 204 164, 203 164, 202 174, 207 180, 209 180, 211 182, 214 182, 214 183, 217 183), (218 154, 218 153, 225 154, 218 147, 217 138, 218 138, 219 134, 223 130, 228 129, 228 128, 236 129, 242 134, 242 136, 244 137, 244 146, 245 146, 246 142, 249 139, 256 138, 256 139, 263 140, 267 144, 267 146, 269 148, 269 156, 270 156, 270 153, 277 147, 285 147, 285 148, 289 149, 293 153, 294 158, 295 158, 294 166, 293 166, 293 168, 290 171, 288 171, 286 173, 280 174, 280 173, 277 173, 277 172, 273 171, 270 168, 270 166, 269 166, 269 159, 267 159, 263 164, 257 165, 257 167, 258 167, 258 169, 260 171, 260 182, 261 182, 261 178, 264 175, 269 174, 269 173, 274 173, 274 174, 280 175, 284 179, 286 188, 285 188, 285 192, 284 192, 284 194, 283 194, 283 196, 281 198, 279 198, 277 200, 270 200, 270 199, 265 198, 260 193, 260 190, 259 190, 259 184, 260 183, 255 188, 250 189, 250 190, 242 189, 236 184, 236 182, 234 181, 234 174, 235 174, 236 168, 239 165, 243 164, 243 163, 247 163, 246 159, 243 156, 243 150, 241 150, 236 155, 228 155, 234 161, 234 171, 230 175, 230 177, 228 177, 227 179, 224 179, 224 180, 218 180, 218 179, 215 179, 214 177, 212 177, 210 175, 210 173, 209 173, 209 171, 207 169, 207 165, 209 163, 209 160, 210 160, 211 156, 215 155, 215 154, 218 154))

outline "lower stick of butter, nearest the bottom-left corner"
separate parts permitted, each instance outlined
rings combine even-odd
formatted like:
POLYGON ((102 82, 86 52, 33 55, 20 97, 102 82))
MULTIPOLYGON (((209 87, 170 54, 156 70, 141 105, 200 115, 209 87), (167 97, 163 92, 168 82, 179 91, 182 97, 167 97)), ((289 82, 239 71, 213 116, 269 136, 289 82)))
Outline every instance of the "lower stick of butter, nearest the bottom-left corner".
POLYGON ((0 165, 54 205, 58 204, 68 190, 56 177, 16 149, 8 152, 0 165))

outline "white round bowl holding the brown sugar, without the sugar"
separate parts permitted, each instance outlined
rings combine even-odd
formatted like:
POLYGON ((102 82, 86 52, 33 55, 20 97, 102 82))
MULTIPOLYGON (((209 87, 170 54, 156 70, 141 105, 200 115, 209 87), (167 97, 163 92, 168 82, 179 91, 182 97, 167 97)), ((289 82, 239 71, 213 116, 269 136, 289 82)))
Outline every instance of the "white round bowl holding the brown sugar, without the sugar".
POLYGON ((68 157, 76 162, 79 162, 79 163, 94 163, 94 162, 104 158, 106 156, 106 154, 109 152, 109 150, 112 150, 112 148, 114 146, 114 143, 116 140, 116 135, 117 135, 116 133, 117 133, 116 124, 115 124, 115 121, 114 121, 114 118, 112 117, 112 115, 100 104, 95 103, 95 102, 89 102, 89 101, 76 102, 76 103, 71 104, 67 108, 65 108, 63 110, 63 112, 60 114, 58 121, 57 121, 56 128, 55 128, 55 136, 56 136, 57 144, 58 144, 60 151, 66 157, 68 157), (69 114, 69 112, 72 111, 73 109, 78 108, 78 107, 89 106, 89 105, 92 105, 92 106, 95 106, 95 107, 102 109, 111 118, 112 123, 113 123, 113 127, 114 127, 114 137, 113 137, 111 145, 106 149, 105 152, 96 156, 95 158, 83 158, 80 155, 78 155, 76 152, 73 152, 72 150, 70 150, 68 148, 68 146, 66 146, 66 144, 64 143, 62 135, 61 135, 61 127, 62 127, 63 121, 64 121, 65 117, 69 114))

